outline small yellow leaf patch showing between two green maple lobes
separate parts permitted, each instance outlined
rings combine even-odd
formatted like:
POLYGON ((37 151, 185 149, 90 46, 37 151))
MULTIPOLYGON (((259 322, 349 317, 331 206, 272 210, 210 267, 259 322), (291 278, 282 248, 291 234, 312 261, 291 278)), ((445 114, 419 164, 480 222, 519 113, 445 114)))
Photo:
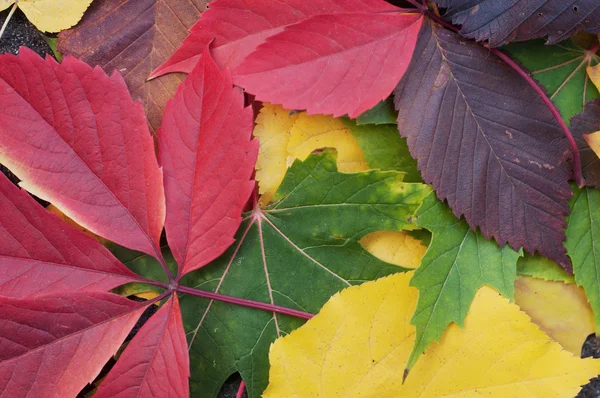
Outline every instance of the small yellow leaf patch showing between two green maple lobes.
POLYGON ((406 268, 417 268, 427 251, 421 241, 401 231, 373 232, 359 242, 380 260, 406 268))

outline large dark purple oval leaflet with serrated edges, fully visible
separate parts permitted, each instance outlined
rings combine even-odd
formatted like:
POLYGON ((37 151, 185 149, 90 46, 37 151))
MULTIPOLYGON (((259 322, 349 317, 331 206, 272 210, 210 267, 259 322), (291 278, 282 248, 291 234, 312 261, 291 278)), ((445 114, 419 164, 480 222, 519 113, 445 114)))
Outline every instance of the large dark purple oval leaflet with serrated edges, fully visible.
POLYGON ((550 110, 489 50, 438 25, 423 26, 415 54, 394 95, 425 182, 486 238, 568 269, 570 153, 550 110))

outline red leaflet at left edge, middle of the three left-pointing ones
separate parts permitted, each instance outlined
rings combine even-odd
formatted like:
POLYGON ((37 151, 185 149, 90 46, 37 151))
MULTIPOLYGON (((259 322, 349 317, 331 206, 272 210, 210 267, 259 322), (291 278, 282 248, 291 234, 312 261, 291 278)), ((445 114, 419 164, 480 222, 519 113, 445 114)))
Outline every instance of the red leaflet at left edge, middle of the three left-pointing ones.
POLYGON ((0 174, 0 296, 107 291, 139 279, 0 174))

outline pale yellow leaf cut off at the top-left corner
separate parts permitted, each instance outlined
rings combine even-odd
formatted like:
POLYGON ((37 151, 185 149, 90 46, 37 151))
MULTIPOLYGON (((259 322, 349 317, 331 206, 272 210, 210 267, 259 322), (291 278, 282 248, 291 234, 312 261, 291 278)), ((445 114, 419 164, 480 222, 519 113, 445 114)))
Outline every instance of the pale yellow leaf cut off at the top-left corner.
POLYGON ((11 5, 13 11, 19 7, 39 30, 60 32, 76 25, 91 3, 92 0, 0 0, 0 11, 11 5))

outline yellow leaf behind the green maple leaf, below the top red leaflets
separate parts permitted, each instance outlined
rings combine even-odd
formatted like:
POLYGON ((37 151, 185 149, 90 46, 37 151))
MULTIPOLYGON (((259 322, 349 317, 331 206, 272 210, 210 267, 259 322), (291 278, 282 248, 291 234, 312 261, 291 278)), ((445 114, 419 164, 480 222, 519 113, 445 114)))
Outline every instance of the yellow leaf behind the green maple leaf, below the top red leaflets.
POLYGON ((280 105, 265 103, 256 118, 254 136, 260 142, 256 180, 261 206, 269 203, 294 159, 305 160, 317 149, 335 148, 341 172, 369 169, 348 127, 331 116, 292 113, 280 105))

